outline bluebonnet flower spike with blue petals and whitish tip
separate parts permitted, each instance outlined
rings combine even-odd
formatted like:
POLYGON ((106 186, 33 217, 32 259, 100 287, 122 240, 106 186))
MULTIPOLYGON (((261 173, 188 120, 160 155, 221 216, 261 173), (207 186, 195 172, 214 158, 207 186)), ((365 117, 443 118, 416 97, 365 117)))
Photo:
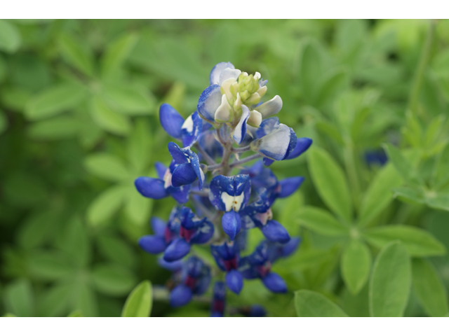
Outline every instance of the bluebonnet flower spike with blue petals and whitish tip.
MULTIPOLYGON (((169 104, 161 105, 161 125, 180 145, 170 142, 168 167, 157 162, 158 177, 139 177, 135 187, 145 197, 171 196, 178 203, 168 221, 152 218, 154 234, 139 240, 144 251, 161 253, 159 265, 173 272, 173 307, 205 293, 212 276, 224 281, 213 285, 211 316, 224 316, 227 290, 239 294, 243 279, 260 279, 274 293, 287 291, 272 264, 292 254, 300 239, 290 237, 271 207, 276 199, 292 195, 304 178, 279 181, 267 166, 297 158, 311 139, 297 138, 293 129, 279 123, 274 115, 281 111, 282 99, 276 95, 264 101, 266 94, 267 80, 260 73, 248 75, 221 62, 210 72, 210 85, 187 119, 169 104), (250 252, 246 237, 253 228, 265 240, 250 252), (216 265, 189 256, 194 244, 210 245, 216 265)), ((265 314, 259 306, 232 311, 265 314)))

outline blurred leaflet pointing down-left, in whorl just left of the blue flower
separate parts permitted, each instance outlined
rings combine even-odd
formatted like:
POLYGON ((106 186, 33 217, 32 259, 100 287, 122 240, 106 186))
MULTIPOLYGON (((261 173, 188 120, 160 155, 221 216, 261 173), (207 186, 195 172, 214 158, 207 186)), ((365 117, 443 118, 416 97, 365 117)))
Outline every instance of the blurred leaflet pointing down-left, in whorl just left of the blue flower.
POLYGON ((103 191, 89 205, 87 218, 92 226, 105 224, 121 207, 127 195, 127 188, 114 186, 103 191))

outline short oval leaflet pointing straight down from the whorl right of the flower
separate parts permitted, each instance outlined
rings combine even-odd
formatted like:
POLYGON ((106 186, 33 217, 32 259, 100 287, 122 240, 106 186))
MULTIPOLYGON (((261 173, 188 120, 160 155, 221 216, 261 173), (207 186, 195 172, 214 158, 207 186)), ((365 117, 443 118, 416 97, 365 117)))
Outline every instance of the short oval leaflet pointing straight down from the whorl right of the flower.
POLYGON ((371 253, 362 241, 353 239, 342 254, 342 276, 353 295, 365 286, 371 270, 371 253))

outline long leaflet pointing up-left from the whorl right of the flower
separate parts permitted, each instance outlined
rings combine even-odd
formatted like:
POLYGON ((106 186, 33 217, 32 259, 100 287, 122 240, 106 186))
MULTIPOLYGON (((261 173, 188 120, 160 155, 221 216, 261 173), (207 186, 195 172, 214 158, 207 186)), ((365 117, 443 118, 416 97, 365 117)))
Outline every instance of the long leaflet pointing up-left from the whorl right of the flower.
POLYGON ((351 195, 342 169, 323 149, 314 147, 309 152, 309 172, 321 199, 337 216, 350 222, 351 195))

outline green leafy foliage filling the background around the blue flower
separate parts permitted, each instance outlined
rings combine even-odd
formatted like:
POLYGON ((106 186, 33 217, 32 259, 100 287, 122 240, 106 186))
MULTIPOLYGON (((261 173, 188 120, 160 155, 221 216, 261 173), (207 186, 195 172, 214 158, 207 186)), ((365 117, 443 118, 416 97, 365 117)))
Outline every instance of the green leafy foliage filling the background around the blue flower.
POLYGON ((314 140, 272 166, 306 176, 273 209, 302 237, 274 266, 290 292, 246 281, 228 306, 447 314, 448 32, 448 20, 0 20, 0 314, 208 316, 135 288, 170 276, 136 241, 174 201, 133 180, 170 161, 159 105, 188 116, 223 61, 260 71, 281 122, 314 140), (382 144, 389 163, 368 165, 382 144))

